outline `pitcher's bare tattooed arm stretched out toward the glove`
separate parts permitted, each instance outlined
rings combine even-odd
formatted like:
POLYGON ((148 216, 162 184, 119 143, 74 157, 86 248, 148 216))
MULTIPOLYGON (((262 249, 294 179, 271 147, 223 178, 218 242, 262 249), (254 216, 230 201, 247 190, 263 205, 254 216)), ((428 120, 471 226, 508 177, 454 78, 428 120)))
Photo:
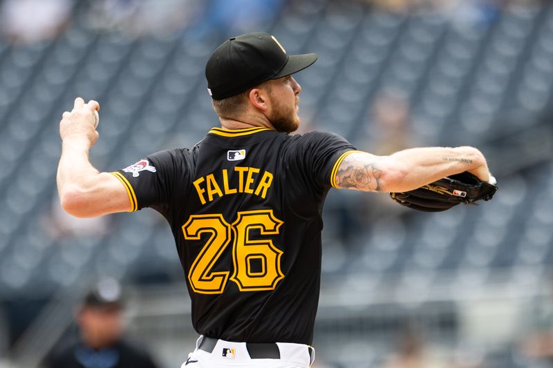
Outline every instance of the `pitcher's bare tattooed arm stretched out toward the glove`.
POLYGON ((341 162, 336 183, 358 191, 403 192, 463 171, 489 180, 485 158, 473 147, 410 148, 389 156, 355 152, 341 162))

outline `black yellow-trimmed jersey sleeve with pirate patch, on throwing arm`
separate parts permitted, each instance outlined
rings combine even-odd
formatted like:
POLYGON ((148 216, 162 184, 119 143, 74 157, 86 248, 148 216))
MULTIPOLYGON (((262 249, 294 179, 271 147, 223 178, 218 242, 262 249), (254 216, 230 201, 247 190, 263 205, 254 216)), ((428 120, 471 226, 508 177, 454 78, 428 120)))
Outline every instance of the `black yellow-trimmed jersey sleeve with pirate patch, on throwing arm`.
POLYGON ((185 184, 189 182, 188 157, 187 149, 160 151, 111 173, 129 195, 131 212, 151 207, 166 215, 169 204, 179 201, 176 195, 186 195, 182 188, 187 188, 185 184), (178 193, 174 191, 176 187, 180 187, 178 193))

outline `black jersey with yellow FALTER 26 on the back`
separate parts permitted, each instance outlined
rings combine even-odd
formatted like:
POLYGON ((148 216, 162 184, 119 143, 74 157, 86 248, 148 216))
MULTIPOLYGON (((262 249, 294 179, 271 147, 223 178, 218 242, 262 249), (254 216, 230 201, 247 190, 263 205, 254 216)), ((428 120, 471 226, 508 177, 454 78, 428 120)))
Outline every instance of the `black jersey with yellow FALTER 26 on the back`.
POLYGON ((173 231, 198 333, 310 344, 321 276, 321 211, 341 159, 332 133, 212 128, 191 150, 155 153, 113 173, 132 211, 173 231))

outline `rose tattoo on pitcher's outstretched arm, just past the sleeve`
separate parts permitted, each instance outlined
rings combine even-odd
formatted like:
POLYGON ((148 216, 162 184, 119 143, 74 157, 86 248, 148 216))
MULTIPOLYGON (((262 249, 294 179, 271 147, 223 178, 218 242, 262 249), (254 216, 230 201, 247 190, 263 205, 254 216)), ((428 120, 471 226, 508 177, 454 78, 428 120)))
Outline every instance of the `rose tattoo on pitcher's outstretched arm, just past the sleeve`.
POLYGON ((336 184, 344 189, 384 192, 386 190, 380 182, 380 177, 382 177, 382 170, 379 170, 373 162, 361 162, 348 156, 340 164, 336 173, 336 184))

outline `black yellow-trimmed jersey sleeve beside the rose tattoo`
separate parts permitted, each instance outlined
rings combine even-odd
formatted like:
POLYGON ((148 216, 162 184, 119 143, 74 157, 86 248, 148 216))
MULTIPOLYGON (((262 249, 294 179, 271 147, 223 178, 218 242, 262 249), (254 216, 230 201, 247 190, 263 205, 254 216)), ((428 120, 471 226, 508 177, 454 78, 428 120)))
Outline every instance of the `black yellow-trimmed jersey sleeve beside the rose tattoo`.
POLYGON ((355 147, 335 133, 312 132, 297 136, 295 158, 319 188, 334 186, 342 157, 355 147))

